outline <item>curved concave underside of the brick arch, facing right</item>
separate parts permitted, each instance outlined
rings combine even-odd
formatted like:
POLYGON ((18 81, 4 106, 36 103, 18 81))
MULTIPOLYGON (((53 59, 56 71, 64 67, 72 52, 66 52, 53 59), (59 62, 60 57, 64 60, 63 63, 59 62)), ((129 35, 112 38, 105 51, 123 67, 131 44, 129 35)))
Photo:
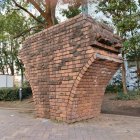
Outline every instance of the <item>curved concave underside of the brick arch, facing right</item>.
POLYGON ((68 105, 68 122, 89 119, 99 115, 106 86, 120 64, 96 59, 73 87, 68 105))

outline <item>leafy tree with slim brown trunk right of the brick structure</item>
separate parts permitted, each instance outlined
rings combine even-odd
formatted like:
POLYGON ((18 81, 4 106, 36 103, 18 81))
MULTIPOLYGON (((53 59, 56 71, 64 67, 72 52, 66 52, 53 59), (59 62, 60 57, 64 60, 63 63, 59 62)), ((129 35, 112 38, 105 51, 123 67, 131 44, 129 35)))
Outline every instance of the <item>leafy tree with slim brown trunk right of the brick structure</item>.
MULTIPOLYGON (((138 4, 135 0, 104 0, 99 3, 99 9, 103 11, 105 15, 111 17, 117 34, 120 35, 124 40, 130 38, 130 36, 133 36, 132 32, 137 30, 139 27, 138 4)), ((123 60, 125 58, 127 49, 125 46, 122 49, 123 60)), ((123 91, 126 94, 126 71, 124 62, 122 64, 122 82, 123 91)))

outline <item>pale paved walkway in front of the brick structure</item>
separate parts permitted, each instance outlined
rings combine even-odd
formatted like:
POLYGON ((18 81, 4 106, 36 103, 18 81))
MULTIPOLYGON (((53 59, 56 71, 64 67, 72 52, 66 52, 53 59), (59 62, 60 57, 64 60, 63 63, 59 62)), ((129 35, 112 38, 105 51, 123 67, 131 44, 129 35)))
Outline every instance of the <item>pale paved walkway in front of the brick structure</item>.
POLYGON ((140 140, 140 118, 104 114, 68 125, 0 109, 0 140, 140 140))

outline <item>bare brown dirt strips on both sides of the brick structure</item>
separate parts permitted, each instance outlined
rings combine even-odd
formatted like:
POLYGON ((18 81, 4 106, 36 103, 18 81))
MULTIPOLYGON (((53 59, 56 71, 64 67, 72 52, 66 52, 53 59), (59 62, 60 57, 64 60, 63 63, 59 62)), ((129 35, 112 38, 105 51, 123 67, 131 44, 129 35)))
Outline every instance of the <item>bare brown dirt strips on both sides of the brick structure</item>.
MULTIPOLYGON (((115 98, 115 94, 106 94, 102 103, 102 113, 105 114, 117 114, 127 116, 140 117, 140 99, 138 100, 112 100, 115 98)), ((34 110, 34 102, 32 98, 23 101, 0 101, 0 107, 3 108, 17 108, 20 109, 20 113, 25 113, 28 110, 34 110)), ((30 111, 28 112, 30 114, 30 111)))

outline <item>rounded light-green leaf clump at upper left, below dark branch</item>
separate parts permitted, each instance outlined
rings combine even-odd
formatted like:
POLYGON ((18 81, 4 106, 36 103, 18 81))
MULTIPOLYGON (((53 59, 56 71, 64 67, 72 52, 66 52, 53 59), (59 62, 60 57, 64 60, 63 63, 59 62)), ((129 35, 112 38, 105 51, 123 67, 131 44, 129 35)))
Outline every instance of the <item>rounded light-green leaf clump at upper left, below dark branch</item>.
POLYGON ((6 40, 10 38, 14 39, 27 29, 28 23, 25 17, 18 11, 11 11, 0 15, 0 40, 3 41, 3 38, 6 40))

